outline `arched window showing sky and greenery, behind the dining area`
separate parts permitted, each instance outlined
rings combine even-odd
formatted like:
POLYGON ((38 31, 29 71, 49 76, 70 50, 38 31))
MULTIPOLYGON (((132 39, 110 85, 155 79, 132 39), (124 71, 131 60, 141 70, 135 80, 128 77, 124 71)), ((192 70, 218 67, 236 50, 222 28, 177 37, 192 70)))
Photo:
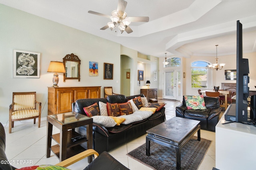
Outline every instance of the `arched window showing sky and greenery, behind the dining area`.
POLYGON ((212 70, 206 61, 191 63, 192 88, 212 88, 212 70))

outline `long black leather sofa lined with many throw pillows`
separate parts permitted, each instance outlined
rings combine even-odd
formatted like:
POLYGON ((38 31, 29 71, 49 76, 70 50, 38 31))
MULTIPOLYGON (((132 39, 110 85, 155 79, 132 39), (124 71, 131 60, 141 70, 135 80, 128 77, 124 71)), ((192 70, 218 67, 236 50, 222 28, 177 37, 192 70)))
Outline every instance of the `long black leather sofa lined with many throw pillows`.
MULTIPOLYGON (((99 101, 104 103, 124 103, 135 97, 144 97, 143 94, 126 97, 124 95, 110 95, 107 98, 97 99, 79 99, 73 104, 73 111, 86 115, 84 107, 90 106, 99 101)), ((160 111, 156 111, 153 115, 139 122, 130 123, 128 125, 121 124, 120 126, 104 127, 98 123, 93 123, 93 149, 99 154, 103 151, 110 151, 124 143, 132 141, 146 133, 146 130, 165 121, 165 107, 160 111)), ((86 126, 76 129, 78 133, 86 136, 86 126)), ((87 148, 86 143, 82 147, 87 148)))

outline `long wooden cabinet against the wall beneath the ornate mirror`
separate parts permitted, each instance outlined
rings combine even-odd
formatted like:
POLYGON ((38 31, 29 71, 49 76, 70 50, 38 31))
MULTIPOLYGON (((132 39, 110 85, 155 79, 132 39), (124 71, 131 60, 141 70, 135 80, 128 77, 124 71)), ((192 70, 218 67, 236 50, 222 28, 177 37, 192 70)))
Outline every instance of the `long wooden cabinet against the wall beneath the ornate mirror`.
POLYGON ((48 87, 48 115, 72 111, 78 99, 100 98, 100 87, 48 87))

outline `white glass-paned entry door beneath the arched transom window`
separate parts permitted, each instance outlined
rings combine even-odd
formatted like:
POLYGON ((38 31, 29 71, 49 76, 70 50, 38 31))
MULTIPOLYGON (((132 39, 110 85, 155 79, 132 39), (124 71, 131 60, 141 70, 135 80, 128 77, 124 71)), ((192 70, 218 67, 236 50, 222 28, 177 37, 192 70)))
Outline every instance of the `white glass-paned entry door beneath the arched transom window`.
POLYGON ((164 99, 181 100, 180 70, 164 70, 164 99))

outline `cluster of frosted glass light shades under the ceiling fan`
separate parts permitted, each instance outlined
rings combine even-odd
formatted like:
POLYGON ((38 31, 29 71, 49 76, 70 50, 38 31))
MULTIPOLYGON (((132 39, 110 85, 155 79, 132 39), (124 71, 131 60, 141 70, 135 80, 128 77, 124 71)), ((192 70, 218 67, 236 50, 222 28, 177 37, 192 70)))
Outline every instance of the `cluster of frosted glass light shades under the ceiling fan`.
POLYGON ((108 22, 108 27, 110 30, 115 30, 117 27, 120 29, 121 33, 130 25, 131 21, 126 19, 126 12, 123 16, 118 16, 117 10, 112 11, 112 16, 110 17, 112 22, 108 22), (124 18, 124 19, 123 19, 124 18))

